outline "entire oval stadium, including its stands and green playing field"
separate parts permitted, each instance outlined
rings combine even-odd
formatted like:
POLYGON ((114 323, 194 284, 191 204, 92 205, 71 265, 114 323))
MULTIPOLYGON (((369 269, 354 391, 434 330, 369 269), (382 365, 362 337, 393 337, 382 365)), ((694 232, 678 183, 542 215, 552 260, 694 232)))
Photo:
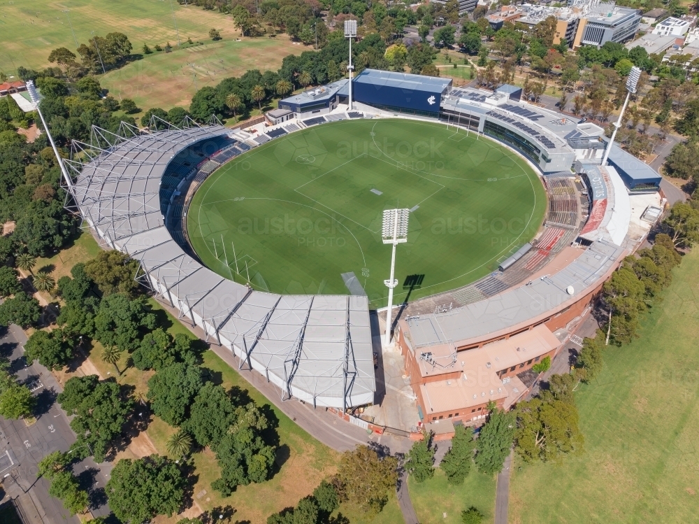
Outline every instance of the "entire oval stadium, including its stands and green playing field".
POLYGON ((69 192, 157 299, 282 399, 367 406, 406 430, 508 408, 644 239, 660 176, 616 146, 601 165, 603 129, 514 86, 373 70, 352 82, 351 108, 340 80, 246 129, 95 128, 69 162, 69 192), (410 226, 394 342, 417 399, 402 422, 372 406, 370 312, 385 311, 389 270, 380 220, 396 207, 410 226))

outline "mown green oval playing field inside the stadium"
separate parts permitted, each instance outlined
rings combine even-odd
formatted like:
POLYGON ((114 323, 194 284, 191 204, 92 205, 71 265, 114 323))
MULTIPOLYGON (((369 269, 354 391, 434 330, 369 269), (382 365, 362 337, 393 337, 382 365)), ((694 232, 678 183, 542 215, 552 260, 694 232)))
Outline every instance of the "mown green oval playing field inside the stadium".
POLYGON ((398 245, 397 299, 466 285, 531 240, 545 191, 520 157, 487 139, 409 120, 333 122, 271 141, 206 180, 189 239, 222 276, 289 294, 346 294, 354 272, 385 305, 391 248, 382 211, 409 208, 398 245), (374 192, 373 192, 374 190, 374 192), (378 194, 380 193, 380 194, 378 194))

